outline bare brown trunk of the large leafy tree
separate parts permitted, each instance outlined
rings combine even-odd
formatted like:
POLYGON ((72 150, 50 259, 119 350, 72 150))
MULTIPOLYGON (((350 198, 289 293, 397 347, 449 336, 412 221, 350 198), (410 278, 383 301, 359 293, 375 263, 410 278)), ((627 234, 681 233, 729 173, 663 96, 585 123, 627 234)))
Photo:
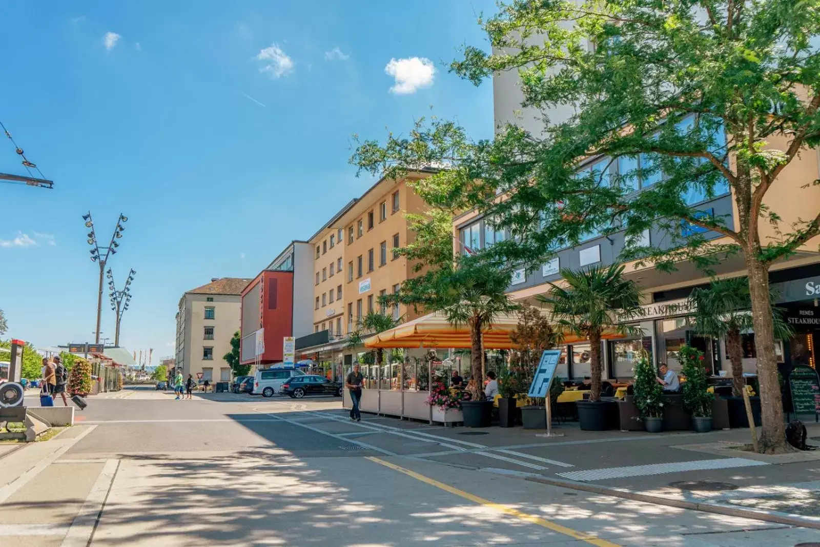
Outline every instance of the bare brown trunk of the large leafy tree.
POLYGON ((754 250, 746 253, 749 271, 749 292, 752 300, 754 346, 758 353, 758 383, 760 385, 761 452, 776 454, 789 451, 786 447, 786 426, 783 423, 783 403, 780 382, 777 381, 777 357, 774 353, 774 320, 769 294, 768 267, 756 257, 754 250))

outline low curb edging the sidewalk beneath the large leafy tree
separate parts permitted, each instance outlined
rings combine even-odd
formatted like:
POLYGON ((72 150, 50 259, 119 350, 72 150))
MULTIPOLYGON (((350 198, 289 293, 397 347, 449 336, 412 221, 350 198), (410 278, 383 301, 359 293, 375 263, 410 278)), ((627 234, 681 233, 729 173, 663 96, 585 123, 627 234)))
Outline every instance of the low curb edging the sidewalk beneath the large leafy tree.
POLYGON ((777 524, 788 524, 790 526, 820 530, 820 521, 810 520, 808 518, 791 515, 789 513, 763 511, 761 509, 735 508, 708 502, 697 503, 693 501, 686 501, 684 499, 662 498, 656 495, 640 494, 639 492, 634 492, 623 488, 607 488, 605 486, 588 485, 577 481, 564 481, 562 479, 551 479, 546 477, 528 476, 525 480, 540 482, 544 485, 558 486, 560 488, 567 488, 570 490, 582 490, 593 494, 611 495, 622 499, 632 499, 634 501, 642 501, 648 504, 666 505, 667 507, 690 509, 692 511, 701 511, 703 513, 716 513, 719 515, 727 515, 728 517, 752 518, 758 521, 775 522, 777 524))

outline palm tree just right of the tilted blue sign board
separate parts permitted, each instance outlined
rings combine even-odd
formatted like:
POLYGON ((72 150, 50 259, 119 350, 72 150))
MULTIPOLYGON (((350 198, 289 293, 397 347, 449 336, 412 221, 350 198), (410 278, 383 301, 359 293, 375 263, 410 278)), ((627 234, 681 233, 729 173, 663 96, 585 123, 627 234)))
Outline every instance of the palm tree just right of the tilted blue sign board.
POLYGON ((635 327, 623 321, 640 316, 640 290, 635 281, 623 279, 623 266, 592 267, 561 271, 567 286, 550 283, 546 296, 538 297, 552 307, 553 319, 573 334, 590 340, 590 401, 601 396, 601 336, 604 330, 631 334, 635 327))

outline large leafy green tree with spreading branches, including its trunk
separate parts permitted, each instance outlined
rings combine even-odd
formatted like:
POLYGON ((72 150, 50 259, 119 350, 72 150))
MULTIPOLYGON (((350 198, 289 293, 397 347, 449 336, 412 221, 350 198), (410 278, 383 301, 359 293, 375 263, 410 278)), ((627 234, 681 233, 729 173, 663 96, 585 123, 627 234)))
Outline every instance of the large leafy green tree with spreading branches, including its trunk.
POLYGON ((391 175, 448 164, 418 192, 494 214, 517 234, 499 246, 511 260, 536 263, 621 230, 623 259, 663 270, 686 260, 708 270, 739 254, 763 399, 759 446, 787 450, 768 270, 820 234, 816 181, 801 190, 781 176, 820 144, 820 2, 514 0, 481 25, 492 52, 467 47, 453 71, 476 84, 517 71, 522 107, 547 122, 556 108, 572 115, 538 134, 508 125, 477 142, 452 121, 419 121, 408 138, 365 141, 352 161, 391 175), (581 169, 588 157, 604 162, 581 169), (786 185, 798 193, 794 221, 767 206, 786 185), (727 190, 734 217, 699 206, 727 190), (663 237, 641 244, 653 226, 663 237))

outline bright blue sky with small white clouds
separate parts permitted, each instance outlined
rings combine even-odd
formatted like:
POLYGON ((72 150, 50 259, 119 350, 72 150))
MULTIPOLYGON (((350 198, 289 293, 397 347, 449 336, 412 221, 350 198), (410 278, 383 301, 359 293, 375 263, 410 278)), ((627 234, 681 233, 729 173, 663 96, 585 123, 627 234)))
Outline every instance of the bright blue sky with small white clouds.
MULTIPOLYGON (((492 133, 492 89, 446 70, 485 0, 2 2, 0 121, 54 189, 0 185, 0 308, 38 346, 93 341, 101 239, 137 271, 121 345, 173 353, 186 289, 253 277, 371 184, 351 135, 418 116, 492 133), (378 6, 378 7, 377 7, 378 6), (392 62, 391 62, 392 61, 392 62), (429 61, 429 62, 428 62, 429 61), (430 71, 430 66, 435 71, 430 71), (432 75, 432 78, 430 78, 432 75)), ((7 139, 0 171, 24 174, 7 139)), ((105 244, 105 243, 102 243, 105 244)), ((103 298, 103 337, 113 314, 103 298)))

